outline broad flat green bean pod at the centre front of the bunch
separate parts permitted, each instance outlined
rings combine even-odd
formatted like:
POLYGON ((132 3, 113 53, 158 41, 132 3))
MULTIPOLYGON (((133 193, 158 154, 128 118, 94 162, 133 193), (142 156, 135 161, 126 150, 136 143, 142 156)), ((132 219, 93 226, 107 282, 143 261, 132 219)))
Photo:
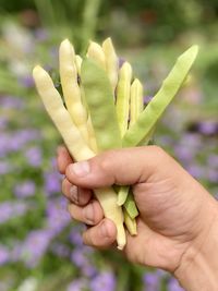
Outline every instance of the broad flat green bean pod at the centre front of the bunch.
POLYGON ((99 151, 121 148, 122 141, 112 97, 112 88, 106 72, 93 60, 82 63, 81 81, 94 126, 99 151))

